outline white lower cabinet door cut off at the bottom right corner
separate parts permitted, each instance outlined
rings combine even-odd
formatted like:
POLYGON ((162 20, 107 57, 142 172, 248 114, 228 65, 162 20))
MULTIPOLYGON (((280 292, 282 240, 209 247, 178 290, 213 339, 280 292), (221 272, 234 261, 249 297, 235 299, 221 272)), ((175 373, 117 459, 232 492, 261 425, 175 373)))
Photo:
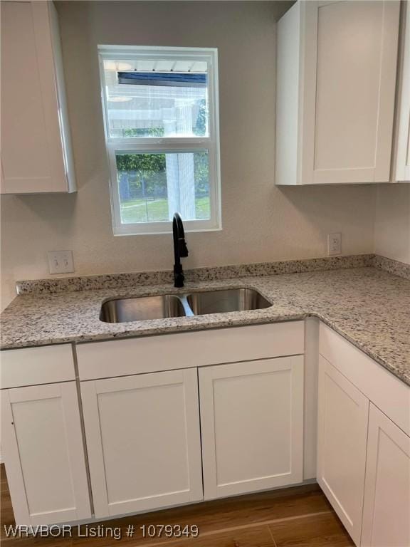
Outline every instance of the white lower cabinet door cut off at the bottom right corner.
POLYGON ((410 545, 410 437, 370 405, 363 547, 410 545))

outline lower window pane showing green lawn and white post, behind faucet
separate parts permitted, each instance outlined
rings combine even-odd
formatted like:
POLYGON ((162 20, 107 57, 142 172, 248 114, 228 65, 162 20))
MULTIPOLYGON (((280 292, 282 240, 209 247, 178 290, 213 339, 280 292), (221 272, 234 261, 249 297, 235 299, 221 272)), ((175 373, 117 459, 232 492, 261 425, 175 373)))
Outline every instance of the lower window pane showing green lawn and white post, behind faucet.
POLYGON ((121 224, 211 218, 208 152, 116 152, 121 224))

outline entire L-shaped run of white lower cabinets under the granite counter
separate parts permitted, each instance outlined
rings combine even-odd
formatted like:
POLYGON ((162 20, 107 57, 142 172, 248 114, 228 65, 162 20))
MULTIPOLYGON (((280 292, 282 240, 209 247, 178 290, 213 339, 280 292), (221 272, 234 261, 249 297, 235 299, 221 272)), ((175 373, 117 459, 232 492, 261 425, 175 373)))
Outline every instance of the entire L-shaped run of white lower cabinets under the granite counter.
POLYGON ((409 547, 409 386, 323 323, 318 348, 309 330, 305 355, 303 323, 249 329, 80 346, 84 431, 70 345, 2 353, 1 447, 16 523, 298 484, 304 444, 316 438, 306 427, 315 397, 317 481, 354 543, 409 547))

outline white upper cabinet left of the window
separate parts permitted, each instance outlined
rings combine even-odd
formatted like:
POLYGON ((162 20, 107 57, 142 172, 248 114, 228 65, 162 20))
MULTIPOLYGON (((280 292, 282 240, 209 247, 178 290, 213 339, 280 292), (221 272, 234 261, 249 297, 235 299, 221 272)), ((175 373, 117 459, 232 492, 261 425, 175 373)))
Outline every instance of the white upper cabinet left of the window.
POLYGON ((1 193, 73 192, 56 9, 1 2, 1 193))

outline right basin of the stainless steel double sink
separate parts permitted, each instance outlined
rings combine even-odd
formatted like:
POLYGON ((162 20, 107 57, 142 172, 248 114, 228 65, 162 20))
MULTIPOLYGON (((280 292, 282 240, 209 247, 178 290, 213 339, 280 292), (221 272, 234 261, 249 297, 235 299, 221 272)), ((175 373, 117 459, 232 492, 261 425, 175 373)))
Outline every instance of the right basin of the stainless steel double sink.
POLYGON ((191 293, 187 296, 189 307, 196 316, 204 313, 259 310, 271 306, 253 288, 227 288, 219 291, 191 293))

